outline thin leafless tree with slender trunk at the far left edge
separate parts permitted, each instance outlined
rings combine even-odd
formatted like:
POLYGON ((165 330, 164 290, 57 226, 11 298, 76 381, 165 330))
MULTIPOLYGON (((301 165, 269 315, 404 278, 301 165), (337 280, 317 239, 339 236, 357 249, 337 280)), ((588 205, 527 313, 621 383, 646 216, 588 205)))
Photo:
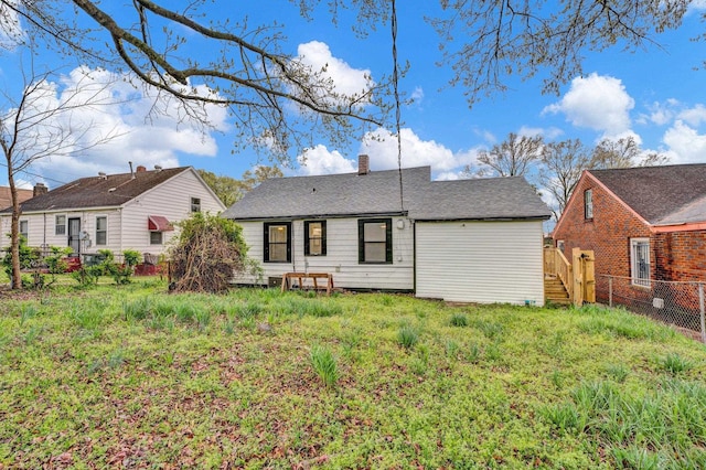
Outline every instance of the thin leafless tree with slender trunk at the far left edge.
POLYGON ((20 203, 17 175, 38 160, 51 157, 76 156, 118 137, 115 129, 100 129, 90 121, 74 118, 79 108, 115 104, 108 84, 94 81, 86 73, 75 87, 65 89, 56 99, 56 87, 50 81, 56 71, 23 74, 19 98, 3 90, 0 111, 0 147, 4 156, 12 200, 10 252, 12 257, 12 286, 22 287, 19 253, 20 203))

